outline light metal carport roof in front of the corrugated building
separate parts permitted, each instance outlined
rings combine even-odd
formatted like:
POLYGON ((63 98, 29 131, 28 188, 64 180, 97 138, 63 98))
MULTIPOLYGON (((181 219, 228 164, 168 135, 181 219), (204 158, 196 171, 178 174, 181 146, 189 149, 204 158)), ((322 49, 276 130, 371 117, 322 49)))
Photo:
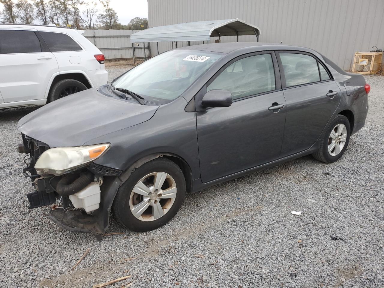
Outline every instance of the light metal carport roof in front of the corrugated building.
POLYGON ((235 19, 198 21, 157 26, 131 35, 131 43, 164 41, 209 41, 214 36, 260 35, 260 28, 235 19))

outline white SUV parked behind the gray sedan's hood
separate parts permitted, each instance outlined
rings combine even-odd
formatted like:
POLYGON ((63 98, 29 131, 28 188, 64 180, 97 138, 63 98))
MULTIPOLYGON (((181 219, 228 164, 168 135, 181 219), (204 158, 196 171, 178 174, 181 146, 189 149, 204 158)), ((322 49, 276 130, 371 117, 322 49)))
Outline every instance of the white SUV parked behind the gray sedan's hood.
POLYGON ((0 109, 41 106, 106 84, 104 55, 82 32, 0 24, 0 109))

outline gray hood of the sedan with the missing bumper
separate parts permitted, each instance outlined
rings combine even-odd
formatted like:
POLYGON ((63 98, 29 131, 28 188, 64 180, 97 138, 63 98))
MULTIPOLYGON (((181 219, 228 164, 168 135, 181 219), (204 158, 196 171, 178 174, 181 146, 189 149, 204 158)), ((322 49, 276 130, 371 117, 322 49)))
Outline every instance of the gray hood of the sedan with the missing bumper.
POLYGON ((100 94, 96 88, 49 103, 24 116, 20 132, 52 147, 81 146, 152 118, 159 106, 100 94))

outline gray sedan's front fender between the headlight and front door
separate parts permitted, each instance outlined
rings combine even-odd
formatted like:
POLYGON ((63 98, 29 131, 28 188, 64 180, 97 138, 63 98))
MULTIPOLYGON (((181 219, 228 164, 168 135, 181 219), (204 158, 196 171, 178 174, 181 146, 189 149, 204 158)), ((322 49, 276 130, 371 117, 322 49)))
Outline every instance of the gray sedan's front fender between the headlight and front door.
POLYGON ((160 106, 148 121, 92 139, 84 145, 111 143, 108 152, 95 163, 120 170, 126 170, 151 154, 172 154, 184 159, 194 179, 199 178, 196 113, 185 112, 186 105, 185 99, 179 97, 160 106))

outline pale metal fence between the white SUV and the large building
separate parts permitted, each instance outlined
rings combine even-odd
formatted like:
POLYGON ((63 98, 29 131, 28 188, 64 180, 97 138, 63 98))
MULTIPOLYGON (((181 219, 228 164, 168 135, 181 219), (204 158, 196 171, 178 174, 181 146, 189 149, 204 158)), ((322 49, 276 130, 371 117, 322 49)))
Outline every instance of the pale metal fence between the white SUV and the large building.
MULTIPOLYGON (((139 30, 133 30, 133 32, 137 31, 139 30)), ((83 34, 99 48, 106 59, 132 58, 132 44, 129 41, 131 35, 132 30, 85 30, 83 34)), ((148 55, 147 48, 146 53, 148 55)), ((143 43, 135 46, 135 56, 144 57, 143 43)))

